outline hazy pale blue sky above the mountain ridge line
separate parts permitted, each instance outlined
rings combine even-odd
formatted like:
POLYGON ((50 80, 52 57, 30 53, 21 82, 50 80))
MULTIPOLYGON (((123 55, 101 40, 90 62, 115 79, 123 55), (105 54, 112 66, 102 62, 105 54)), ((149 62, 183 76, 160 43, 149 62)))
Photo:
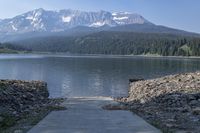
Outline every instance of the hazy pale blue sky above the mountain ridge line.
POLYGON ((200 33, 200 0, 0 0, 0 18, 36 8, 136 12, 155 24, 200 33))

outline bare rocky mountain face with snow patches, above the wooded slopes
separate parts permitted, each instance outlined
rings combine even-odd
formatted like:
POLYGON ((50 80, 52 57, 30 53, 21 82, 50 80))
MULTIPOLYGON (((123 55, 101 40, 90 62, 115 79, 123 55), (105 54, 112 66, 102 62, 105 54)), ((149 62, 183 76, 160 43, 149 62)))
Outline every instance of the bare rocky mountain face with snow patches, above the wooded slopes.
POLYGON ((1 34, 26 32, 59 32, 77 26, 101 27, 150 23, 139 14, 107 11, 79 10, 47 11, 36 9, 10 19, 0 20, 1 34))

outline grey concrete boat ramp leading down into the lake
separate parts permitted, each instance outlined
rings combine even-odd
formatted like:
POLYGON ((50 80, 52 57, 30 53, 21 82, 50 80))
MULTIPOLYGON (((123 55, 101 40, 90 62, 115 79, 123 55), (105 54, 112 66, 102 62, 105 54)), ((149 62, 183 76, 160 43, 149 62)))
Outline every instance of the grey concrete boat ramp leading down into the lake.
POLYGON ((160 133, 158 129, 129 111, 104 110, 116 104, 109 97, 67 99, 64 111, 54 111, 28 133, 160 133))

